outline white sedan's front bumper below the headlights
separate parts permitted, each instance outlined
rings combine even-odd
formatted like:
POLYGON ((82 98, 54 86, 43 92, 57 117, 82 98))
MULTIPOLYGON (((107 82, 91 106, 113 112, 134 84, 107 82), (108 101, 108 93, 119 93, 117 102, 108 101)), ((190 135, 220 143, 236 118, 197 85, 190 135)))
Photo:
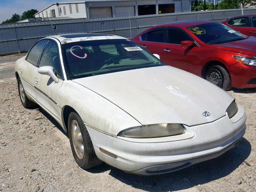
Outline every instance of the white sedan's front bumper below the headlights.
MULTIPOLYGON (((246 130, 246 114, 239 107, 230 120, 224 116, 214 122, 191 126, 194 137, 170 142, 134 142, 111 136, 86 126, 97 157, 116 168, 134 174, 162 174, 216 158, 233 148, 246 130), (113 158, 100 148, 115 154, 113 158)), ((166 138, 165 138, 166 139, 166 138)))

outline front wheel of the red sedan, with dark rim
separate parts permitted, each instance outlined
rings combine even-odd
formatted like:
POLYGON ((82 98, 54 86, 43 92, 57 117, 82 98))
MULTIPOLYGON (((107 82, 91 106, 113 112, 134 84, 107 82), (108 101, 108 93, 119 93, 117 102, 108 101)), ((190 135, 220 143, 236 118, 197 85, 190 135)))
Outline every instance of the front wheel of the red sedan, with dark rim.
POLYGON ((228 91, 231 89, 231 81, 228 72, 219 65, 209 68, 206 72, 206 80, 228 91))

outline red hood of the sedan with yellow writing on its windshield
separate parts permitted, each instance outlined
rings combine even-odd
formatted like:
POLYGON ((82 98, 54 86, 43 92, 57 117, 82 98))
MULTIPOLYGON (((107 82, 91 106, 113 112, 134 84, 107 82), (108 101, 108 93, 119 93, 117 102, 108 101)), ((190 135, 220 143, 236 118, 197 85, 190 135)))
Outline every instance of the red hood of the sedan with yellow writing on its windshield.
POLYGON ((249 37, 230 43, 216 44, 215 46, 220 50, 256 55, 256 37, 249 37))

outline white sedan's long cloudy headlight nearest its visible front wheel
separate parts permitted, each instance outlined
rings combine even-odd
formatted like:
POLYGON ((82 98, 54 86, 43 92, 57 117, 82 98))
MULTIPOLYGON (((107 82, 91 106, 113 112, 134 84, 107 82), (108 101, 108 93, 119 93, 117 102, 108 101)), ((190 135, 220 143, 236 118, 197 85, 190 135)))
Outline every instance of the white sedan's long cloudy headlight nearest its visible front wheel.
POLYGON ((128 138, 156 138, 184 134, 185 128, 177 123, 142 125, 125 129, 118 136, 128 138))

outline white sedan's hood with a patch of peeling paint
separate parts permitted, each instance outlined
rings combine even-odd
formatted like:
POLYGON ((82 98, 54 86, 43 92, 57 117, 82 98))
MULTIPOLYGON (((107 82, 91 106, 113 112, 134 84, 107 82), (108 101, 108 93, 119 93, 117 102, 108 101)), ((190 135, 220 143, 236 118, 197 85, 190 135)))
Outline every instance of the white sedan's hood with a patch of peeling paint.
POLYGON ((73 81, 100 94, 143 125, 181 123, 193 126, 212 122, 225 116, 234 100, 210 82, 171 66, 127 70, 73 81), (203 116, 205 111, 210 116, 203 116))

